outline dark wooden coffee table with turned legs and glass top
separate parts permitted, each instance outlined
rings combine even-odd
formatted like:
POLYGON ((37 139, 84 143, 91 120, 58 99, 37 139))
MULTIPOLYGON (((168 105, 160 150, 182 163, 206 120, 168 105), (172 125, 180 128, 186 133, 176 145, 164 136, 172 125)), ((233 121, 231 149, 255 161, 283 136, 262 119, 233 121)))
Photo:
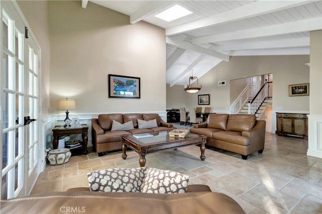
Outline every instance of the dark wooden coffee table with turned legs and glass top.
POLYGON ((188 133, 185 138, 172 138, 169 137, 168 132, 149 133, 153 135, 152 138, 136 139, 132 135, 127 135, 122 138, 122 158, 126 159, 126 149, 130 147, 137 154, 139 154, 139 164, 141 167, 145 166, 145 155, 153 152, 158 152, 167 149, 176 149, 179 147, 200 144, 200 159, 204 161, 206 136, 188 133))

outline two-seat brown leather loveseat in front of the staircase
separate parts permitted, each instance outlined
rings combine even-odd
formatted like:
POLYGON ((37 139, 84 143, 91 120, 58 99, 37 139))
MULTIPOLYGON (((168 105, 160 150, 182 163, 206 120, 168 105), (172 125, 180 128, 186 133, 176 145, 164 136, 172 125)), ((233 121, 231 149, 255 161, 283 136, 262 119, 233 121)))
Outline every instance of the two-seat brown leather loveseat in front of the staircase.
POLYGON ((249 154, 263 153, 266 121, 257 121, 254 115, 210 114, 208 120, 196 124, 191 133, 207 136, 208 146, 240 154, 247 160, 249 154))

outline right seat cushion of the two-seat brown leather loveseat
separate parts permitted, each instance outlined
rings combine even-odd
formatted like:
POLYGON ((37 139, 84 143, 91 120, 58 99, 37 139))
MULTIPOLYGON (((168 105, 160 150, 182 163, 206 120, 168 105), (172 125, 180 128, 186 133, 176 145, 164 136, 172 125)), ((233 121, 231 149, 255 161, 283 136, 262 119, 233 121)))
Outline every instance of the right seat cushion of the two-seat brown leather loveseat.
POLYGON ((250 138, 241 136, 240 132, 231 132, 231 131, 215 132, 212 134, 212 138, 219 141, 224 141, 224 142, 243 145, 243 146, 250 145, 250 138))

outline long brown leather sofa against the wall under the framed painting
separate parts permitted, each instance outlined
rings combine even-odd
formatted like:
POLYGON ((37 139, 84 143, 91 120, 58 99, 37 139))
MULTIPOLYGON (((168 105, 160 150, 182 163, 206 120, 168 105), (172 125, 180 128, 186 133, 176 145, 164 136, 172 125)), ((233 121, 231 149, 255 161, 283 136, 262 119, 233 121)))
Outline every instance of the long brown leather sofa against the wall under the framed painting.
POLYGON ((144 134, 176 129, 173 124, 164 122, 158 114, 101 114, 92 119, 93 148, 99 156, 104 152, 122 149, 122 137, 125 135, 144 134), (158 127, 138 129, 137 119, 150 121, 156 119, 158 127), (123 124, 133 122, 134 128, 129 131, 111 131, 113 120, 123 124))

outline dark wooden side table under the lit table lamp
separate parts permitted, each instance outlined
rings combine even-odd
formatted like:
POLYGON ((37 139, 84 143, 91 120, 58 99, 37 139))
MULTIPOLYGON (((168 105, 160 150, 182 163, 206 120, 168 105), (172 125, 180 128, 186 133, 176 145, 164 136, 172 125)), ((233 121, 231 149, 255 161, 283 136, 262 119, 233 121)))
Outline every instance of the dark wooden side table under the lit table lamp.
POLYGON ((61 136, 82 134, 84 154, 86 155, 88 153, 88 150, 87 150, 88 131, 89 131, 89 128, 86 124, 82 124, 80 127, 77 127, 77 128, 70 128, 70 127, 65 128, 64 126, 55 126, 54 129, 52 130, 52 135, 54 138, 52 141, 53 148, 57 149, 58 140, 60 139, 61 136))

